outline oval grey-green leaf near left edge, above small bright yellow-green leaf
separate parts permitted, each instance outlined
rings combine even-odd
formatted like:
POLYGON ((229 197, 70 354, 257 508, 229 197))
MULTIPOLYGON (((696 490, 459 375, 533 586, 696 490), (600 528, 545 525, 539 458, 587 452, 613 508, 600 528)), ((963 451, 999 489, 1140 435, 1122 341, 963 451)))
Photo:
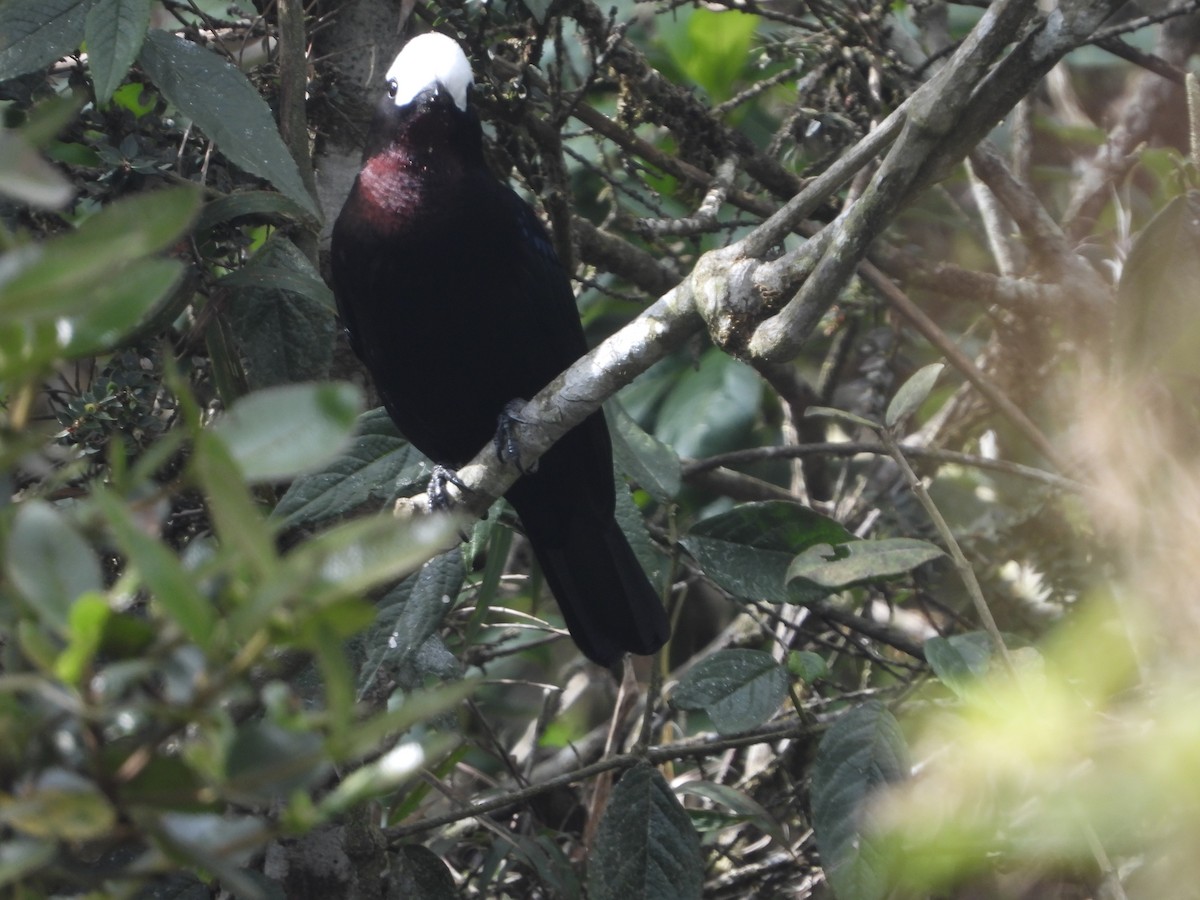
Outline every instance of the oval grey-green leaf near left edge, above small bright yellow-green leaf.
POLYGON ((42 500, 18 506, 5 570, 29 607, 60 635, 70 632, 70 610, 76 599, 104 584, 91 546, 42 500))

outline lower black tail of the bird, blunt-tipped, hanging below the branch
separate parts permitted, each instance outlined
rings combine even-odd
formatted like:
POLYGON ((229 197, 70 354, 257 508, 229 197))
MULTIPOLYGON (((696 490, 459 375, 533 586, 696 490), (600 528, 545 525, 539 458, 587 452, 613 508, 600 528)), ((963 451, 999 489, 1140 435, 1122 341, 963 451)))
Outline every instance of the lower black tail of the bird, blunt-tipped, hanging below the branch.
POLYGON ((565 534, 539 534, 527 521, 526 530, 584 656, 611 666, 626 652, 648 655, 667 642, 666 611, 614 518, 576 518, 565 534))

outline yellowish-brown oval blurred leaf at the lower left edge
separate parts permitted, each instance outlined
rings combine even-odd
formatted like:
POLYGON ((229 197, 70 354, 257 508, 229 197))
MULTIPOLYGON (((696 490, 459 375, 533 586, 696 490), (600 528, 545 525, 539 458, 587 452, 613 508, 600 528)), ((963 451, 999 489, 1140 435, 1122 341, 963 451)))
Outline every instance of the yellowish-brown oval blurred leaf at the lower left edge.
POLYGON ((116 811, 88 779, 49 769, 14 796, 0 793, 0 823, 32 838, 86 841, 108 836, 116 811))

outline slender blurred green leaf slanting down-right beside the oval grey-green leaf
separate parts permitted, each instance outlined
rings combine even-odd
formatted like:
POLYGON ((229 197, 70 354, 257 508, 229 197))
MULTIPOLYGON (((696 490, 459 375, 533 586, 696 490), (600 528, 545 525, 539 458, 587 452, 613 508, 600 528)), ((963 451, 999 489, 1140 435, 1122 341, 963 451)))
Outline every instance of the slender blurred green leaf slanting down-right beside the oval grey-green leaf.
POLYGON ((200 593, 191 572, 167 545, 146 534, 132 511, 108 490, 92 488, 92 500, 108 521, 116 544, 155 600, 200 647, 212 637, 216 612, 200 593))

